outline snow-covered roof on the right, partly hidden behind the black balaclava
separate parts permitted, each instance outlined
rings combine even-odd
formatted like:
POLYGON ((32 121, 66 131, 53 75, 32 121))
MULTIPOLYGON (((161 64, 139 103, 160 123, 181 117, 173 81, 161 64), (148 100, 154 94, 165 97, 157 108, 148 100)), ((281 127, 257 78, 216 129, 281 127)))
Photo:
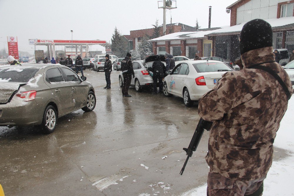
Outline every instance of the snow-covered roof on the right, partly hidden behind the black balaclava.
MULTIPOLYGON (((265 21, 267 21, 273 27, 273 30, 292 30, 294 28, 294 16, 275 18, 275 19, 266 19, 265 21)), ((205 36, 239 34, 244 24, 245 22, 241 24, 237 24, 235 26, 218 29, 218 30, 215 30, 214 32, 205 34, 205 36)))

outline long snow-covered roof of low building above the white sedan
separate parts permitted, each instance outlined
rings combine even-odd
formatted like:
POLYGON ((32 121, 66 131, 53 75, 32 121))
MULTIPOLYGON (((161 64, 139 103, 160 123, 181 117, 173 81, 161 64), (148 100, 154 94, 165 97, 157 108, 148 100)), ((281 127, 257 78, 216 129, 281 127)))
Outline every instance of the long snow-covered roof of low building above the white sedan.
POLYGON ((187 39, 200 39, 204 38, 206 34, 213 33, 216 30, 210 30, 210 31, 194 31, 194 32, 177 32, 177 33, 171 33, 167 34, 155 39, 150 39, 149 41, 169 41, 169 40, 187 40, 187 39))

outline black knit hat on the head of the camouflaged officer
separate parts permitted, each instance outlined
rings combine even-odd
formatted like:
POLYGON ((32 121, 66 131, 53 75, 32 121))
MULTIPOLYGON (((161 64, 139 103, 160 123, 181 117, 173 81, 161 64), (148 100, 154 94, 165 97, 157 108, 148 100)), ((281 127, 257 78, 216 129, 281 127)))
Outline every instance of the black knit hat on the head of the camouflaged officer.
POLYGON ((240 33, 241 55, 250 50, 273 46, 273 29, 262 19, 247 22, 240 33))

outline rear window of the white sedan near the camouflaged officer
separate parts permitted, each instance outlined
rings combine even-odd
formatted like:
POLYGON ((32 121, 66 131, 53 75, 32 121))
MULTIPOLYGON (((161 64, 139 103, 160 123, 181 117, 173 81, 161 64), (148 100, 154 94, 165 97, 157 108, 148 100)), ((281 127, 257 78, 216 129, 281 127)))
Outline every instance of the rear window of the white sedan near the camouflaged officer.
POLYGON ((193 67, 198 73, 233 71, 228 65, 221 62, 194 63, 193 67))

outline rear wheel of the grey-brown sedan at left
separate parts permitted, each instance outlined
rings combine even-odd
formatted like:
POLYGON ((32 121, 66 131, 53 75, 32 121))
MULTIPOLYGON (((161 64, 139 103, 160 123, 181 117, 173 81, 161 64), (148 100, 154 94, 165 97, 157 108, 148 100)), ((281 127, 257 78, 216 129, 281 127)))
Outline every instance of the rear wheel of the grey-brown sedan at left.
POLYGON ((46 107, 43 115, 41 128, 47 134, 53 133, 57 124, 57 112, 55 107, 49 105, 46 107))

